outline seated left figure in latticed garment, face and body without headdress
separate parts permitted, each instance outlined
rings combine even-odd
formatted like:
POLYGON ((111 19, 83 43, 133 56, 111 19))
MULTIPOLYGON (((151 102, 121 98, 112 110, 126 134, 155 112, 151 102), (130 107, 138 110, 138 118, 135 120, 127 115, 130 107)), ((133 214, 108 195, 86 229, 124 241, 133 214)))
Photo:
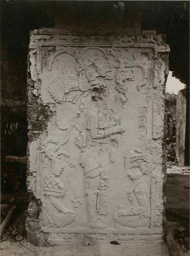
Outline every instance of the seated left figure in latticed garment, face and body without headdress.
POLYGON ((62 228, 76 219, 76 213, 59 201, 66 192, 63 182, 58 178, 63 172, 63 163, 59 159, 51 160, 51 166, 51 174, 44 177, 44 194, 47 199, 42 204, 42 220, 46 227, 62 228))

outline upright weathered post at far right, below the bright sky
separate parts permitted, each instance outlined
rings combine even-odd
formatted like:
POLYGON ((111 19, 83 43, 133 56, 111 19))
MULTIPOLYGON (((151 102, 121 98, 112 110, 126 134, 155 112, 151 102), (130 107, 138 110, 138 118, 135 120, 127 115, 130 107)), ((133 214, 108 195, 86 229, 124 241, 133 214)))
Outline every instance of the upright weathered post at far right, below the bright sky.
POLYGON ((186 132, 186 89, 177 95, 176 106, 176 159, 184 165, 185 160, 185 132, 186 132))

